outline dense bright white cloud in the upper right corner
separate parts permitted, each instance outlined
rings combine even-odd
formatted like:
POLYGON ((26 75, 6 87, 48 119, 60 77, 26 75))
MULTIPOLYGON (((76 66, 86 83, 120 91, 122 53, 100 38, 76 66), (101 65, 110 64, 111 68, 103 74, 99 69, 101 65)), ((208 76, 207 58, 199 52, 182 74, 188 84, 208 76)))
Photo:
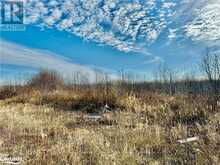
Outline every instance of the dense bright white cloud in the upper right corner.
POLYGON ((186 26, 186 35, 195 41, 220 40, 220 0, 206 0, 194 10, 194 19, 186 26))

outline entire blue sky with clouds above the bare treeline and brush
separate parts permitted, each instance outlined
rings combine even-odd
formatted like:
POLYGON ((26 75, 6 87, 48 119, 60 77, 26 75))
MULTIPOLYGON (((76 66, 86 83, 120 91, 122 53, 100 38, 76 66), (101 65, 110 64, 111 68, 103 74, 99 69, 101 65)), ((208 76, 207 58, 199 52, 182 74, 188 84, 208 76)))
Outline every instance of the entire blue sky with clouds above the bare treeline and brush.
MULTIPOLYGON (((1 4, 1 3, 0 3, 1 4)), ((23 31, 0 31, 0 83, 41 69, 152 79, 158 65, 195 70, 220 52, 220 0, 24 0, 23 31)), ((1 17, 0 17, 1 22, 1 17)))

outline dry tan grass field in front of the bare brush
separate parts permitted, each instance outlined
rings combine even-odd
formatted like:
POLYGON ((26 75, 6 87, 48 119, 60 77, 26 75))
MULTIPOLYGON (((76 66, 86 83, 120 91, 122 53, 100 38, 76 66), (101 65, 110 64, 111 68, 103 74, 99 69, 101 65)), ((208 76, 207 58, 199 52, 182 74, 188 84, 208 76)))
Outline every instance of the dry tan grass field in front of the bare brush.
POLYGON ((59 93, 1 101, 0 154, 28 165, 220 163, 220 112, 202 102, 124 96, 108 109, 99 99, 63 107, 83 99, 59 93), (98 110, 81 111, 91 102, 98 110), (198 139, 177 142, 189 137, 198 139))

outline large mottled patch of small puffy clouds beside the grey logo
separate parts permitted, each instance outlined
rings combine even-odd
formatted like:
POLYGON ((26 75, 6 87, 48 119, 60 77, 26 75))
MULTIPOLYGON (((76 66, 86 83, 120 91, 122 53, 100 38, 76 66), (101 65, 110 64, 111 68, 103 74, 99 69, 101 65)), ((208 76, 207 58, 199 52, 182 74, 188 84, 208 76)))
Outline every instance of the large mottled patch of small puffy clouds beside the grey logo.
POLYGON ((174 6, 170 0, 27 0, 26 22, 130 52, 138 50, 140 42, 147 46, 157 40, 168 26, 174 6))

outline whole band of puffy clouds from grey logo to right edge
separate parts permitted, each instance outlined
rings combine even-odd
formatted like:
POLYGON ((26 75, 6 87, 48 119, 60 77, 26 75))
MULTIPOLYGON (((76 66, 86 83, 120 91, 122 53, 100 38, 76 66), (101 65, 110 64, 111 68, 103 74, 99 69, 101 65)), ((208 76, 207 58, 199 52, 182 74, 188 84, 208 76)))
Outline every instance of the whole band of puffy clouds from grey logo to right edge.
POLYGON ((220 39, 220 0, 26 0, 26 23, 68 31, 125 52, 147 52, 162 33, 220 39), (172 27, 170 25, 177 25, 172 27))

